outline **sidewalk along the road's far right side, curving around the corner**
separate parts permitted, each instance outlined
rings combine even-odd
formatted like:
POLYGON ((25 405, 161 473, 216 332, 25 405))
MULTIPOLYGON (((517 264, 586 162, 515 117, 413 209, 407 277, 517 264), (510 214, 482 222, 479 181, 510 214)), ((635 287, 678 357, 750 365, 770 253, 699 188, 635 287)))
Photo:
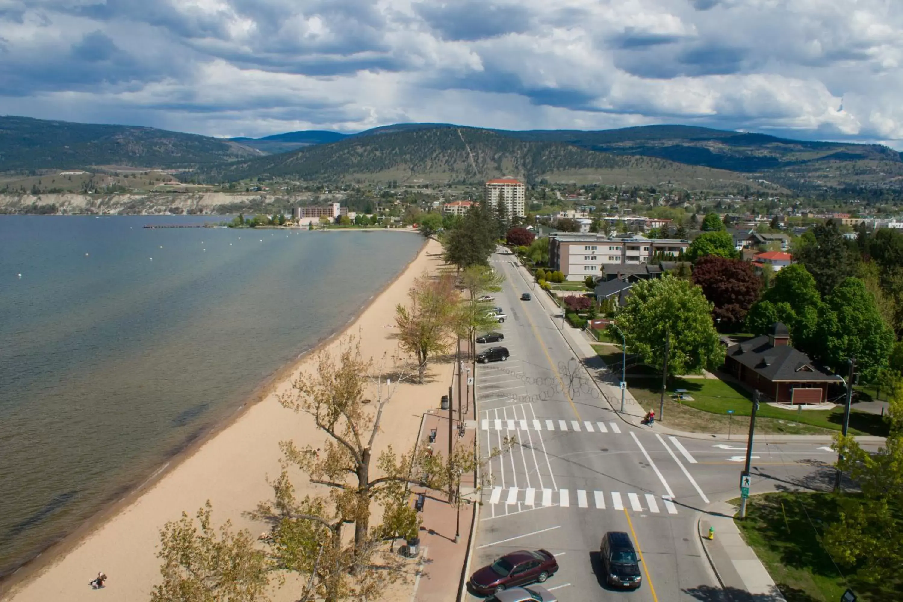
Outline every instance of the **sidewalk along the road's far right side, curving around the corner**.
MULTIPOLYGON (((526 280, 530 278, 529 273, 526 271, 526 268, 524 268, 522 265, 518 264, 517 270, 518 273, 520 273, 526 280)), ((561 308, 557 307, 554 304, 554 301, 552 301, 547 292, 537 288, 534 298, 537 301, 540 301, 543 309, 546 310, 550 316, 561 316, 561 308)), ((615 386, 614 384, 601 381, 598 378, 598 372, 605 367, 605 362, 602 361, 602 358, 599 357, 599 354, 596 353, 596 350, 592 348, 592 343, 595 343, 596 341, 593 340, 590 335, 588 335, 583 330, 574 329, 567 324, 565 324, 562 328, 561 320, 552 321, 554 322, 555 328, 561 331, 564 341, 568 344, 569 347, 571 347, 574 356, 577 357, 578 360, 580 360, 591 380, 596 384, 597 387, 599 387, 602 397, 604 398, 611 411, 616 412, 621 420, 628 422, 628 424, 632 424, 633 426, 636 426, 638 428, 648 429, 649 427, 641 424, 641 421, 646 416, 646 410, 644 410, 643 407, 638 403, 633 394, 630 394, 630 390, 627 389, 624 392, 624 412, 620 412, 621 392, 619 387, 615 386)), ((652 428, 657 433, 663 435, 675 435, 675 437, 684 437, 687 439, 724 441, 729 440, 729 435, 727 434, 678 431, 676 429, 671 429, 669 427, 663 426, 660 422, 656 422, 652 428)), ((736 440, 736 436, 734 436, 734 440, 736 440)), ((756 435, 756 440, 762 443, 830 443, 833 438, 831 435, 756 435)), ((870 436, 856 437, 855 440, 859 441, 860 443, 884 442, 883 437, 870 436)))

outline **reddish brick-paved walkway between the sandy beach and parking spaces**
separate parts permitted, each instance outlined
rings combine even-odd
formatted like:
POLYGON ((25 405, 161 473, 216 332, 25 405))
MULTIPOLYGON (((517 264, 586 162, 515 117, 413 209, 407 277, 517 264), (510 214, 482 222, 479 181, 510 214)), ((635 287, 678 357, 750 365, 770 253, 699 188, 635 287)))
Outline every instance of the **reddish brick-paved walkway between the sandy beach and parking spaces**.
MULTIPOLYGON (((470 364, 465 364, 470 366, 470 364)), ((472 366, 471 372, 473 374, 472 366)), ((473 420, 473 392, 474 387, 466 385, 467 374, 458 383, 455 377, 452 399, 452 447, 458 445, 473 448, 477 428, 473 420), (470 393, 470 394, 469 394, 470 393), (465 431, 463 437, 459 436, 458 426, 458 401, 466 403, 461 409, 467 407, 467 412, 462 412, 465 431)), ((424 446, 448 457, 449 453, 449 412, 448 410, 430 410, 424 413, 421 424, 420 440, 418 447, 424 446), (430 441, 431 433, 435 430, 433 442, 430 441)), ((462 577, 469 564, 469 551, 474 536, 475 507, 467 495, 475 488, 474 475, 464 475, 461 480, 461 508, 456 510, 449 504, 448 495, 441 492, 425 489, 424 487, 411 487, 412 504, 417 494, 425 495, 424 511, 421 514, 423 523, 420 527, 420 559, 419 570, 415 577, 414 589, 411 593, 411 602, 452 602, 458 598, 462 577), (466 500, 466 501, 464 501, 466 500), (458 542, 455 542, 455 534, 458 534, 458 542)))

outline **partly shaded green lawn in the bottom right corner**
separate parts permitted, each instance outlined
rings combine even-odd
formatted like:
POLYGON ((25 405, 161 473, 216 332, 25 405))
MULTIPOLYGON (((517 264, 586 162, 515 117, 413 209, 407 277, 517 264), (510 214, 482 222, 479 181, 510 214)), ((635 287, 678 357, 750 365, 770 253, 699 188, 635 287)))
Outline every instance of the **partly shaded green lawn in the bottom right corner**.
MULTIPOLYGON (((894 584, 881 591, 856 579, 852 569, 841 568, 847 574, 843 579, 821 543, 824 525, 833 523, 837 512, 831 494, 753 495, 747 519, 735 522, 787 602, 837 602, 846 588, 852 588, 860 602, 900 599, 894 584)), ((899 588, 899 582, 896 585, 899 588)))

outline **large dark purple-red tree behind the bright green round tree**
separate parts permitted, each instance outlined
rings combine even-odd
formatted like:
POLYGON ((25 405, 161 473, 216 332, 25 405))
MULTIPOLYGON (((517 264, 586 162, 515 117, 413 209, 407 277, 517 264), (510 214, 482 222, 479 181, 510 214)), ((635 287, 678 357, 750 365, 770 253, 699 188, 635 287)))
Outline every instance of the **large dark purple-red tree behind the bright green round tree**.
POLYGON ((759 301, 762 286, 749 262, 706 255, 696 262, 693 282, 712 302, 715 324, 734 329, 743 323, 749 308, 759 301))

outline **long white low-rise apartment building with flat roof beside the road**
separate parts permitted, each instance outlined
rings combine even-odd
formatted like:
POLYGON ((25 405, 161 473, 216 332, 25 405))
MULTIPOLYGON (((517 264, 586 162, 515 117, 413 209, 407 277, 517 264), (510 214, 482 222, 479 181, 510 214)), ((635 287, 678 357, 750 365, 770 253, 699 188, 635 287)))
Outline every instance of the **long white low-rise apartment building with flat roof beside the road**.
POLYGON ((690 246, 678 238, 609 238, 557 232, 549 237, 549 264, 567 280, 602 275, 603 264, 646 264, 656 254, 677 257, 690 246))

